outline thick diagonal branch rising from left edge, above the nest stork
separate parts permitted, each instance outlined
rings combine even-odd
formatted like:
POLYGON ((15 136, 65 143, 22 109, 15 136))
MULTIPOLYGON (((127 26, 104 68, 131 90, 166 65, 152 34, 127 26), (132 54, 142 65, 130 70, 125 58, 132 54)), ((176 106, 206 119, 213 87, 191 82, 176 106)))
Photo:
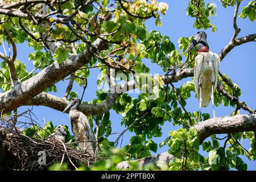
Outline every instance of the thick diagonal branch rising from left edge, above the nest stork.
MULTIPOLYGON (((97 47, 98 51, 107 47, 107 43, 100 38, 96 39, 93 45, 97 47)), ((31 98, 43 92, 55 82, 75 72, 84 64, 89 63, 93 53, 95 53, 95 50, 88 48, 79 55, 69 56, 63 63, 54 62, 37 75, 16 85, 7 92, 0 93, 0 110, 5 113, 15 109, 15 107, 26 104, 28 100, 31 100, 31 98)))

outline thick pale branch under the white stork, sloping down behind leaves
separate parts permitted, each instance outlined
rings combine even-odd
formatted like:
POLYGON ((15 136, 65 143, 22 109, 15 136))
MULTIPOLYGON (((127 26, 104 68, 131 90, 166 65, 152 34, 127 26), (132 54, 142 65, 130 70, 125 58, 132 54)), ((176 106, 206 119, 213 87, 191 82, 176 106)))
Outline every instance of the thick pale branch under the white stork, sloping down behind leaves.
MULTIPOLYGON (((228 134, 228 133, 238 133, 244 131, 255 131, 256 130, 256 114, 243 114, 226 116, 220 118, 212 118, 206 121, 200 122, 193 126, 197 130, 197 135, 200 139, 200 144, 203 141, 214 134, 228 134)), ((159 162, 168 163, 174 159, 174 156, 168 154, 168 152, 163 152, 162 154, 148 156, 146 158, 135 160, 138 162, 139 170, 147 163, 152 163, 156 167, 159 166, 159 162)), ((128 169, 130 161, 123 161, 117 164, 118 169, 128 169)))

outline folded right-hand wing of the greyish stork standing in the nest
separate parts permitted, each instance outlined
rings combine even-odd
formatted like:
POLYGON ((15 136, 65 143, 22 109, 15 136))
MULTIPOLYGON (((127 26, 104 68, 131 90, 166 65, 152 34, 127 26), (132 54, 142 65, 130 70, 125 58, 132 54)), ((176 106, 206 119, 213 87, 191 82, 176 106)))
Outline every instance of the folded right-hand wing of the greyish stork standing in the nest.
POLYGON ((82 125, 84 125, 84 129, 85 129, 85 135, 86 136, 84 136, 84 137, 86 137, 87 139, 92 141, 93 150, 96 150, 96 138, 95 138, 95 135, 93 133, 92 127, 90 126, 90 123, 89 123, 86 115, 84 115, 81 112, 80 112, 80 118, 81 118, 81 121, 82 121, 82 125))

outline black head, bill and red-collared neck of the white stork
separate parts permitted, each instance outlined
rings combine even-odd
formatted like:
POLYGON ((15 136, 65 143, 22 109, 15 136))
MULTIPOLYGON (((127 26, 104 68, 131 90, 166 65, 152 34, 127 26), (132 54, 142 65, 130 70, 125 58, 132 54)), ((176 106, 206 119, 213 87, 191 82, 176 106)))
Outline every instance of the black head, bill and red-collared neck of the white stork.
POLYGON ((191 44, 188 46, 187 50, 184 53, 191 51, 194 47, 196 47, 197 44, 198 44, 197 52, 208 52, 209 45, 206 39, 207 39, 207 34, 204 31, 197 32, 191 44))

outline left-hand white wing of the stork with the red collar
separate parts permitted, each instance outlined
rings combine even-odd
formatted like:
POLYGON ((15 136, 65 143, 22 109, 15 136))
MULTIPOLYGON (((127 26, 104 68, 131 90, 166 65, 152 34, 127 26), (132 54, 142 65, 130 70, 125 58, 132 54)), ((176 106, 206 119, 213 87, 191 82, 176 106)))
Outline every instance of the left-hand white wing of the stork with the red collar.
POLYGON ((201 75, 201 71, 203 69, 203 61, 204 55, 203 53, 199 53, 196 56, 195 60, 195 69, 194 69, 194 82, 195 82, 195 90, 196 90, 196 97, 199 98, 199 77, 201 75))

